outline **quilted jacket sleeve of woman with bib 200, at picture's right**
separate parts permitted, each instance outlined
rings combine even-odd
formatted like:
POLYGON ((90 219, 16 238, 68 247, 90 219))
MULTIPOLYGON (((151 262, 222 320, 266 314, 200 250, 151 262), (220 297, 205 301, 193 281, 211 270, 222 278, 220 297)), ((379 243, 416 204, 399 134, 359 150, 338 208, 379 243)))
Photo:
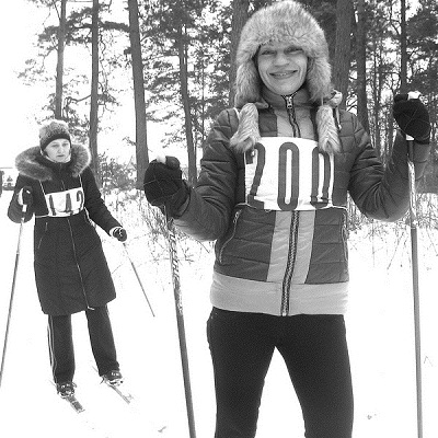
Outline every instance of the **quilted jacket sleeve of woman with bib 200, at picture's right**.
MULTIPOLYGON (((391 157, 384 166, 368 134, 353 116, 357 155, 350 170, 349 194, 360 211, 369 218, 395 221, 410 207, 407 142, 397 132, 391 157)), ((428 145, 414 143, 415 178, 424 173, 429 154, 428 145)))

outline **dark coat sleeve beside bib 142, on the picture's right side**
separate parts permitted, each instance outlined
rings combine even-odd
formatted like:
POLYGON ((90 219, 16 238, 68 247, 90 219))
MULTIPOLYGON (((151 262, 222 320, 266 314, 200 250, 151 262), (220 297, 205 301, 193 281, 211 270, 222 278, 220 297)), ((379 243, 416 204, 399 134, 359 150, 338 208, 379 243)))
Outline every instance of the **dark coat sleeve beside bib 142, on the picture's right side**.
POLYGON ((114 227, 122 227, 106 208, 90 168, 87 168, 82 173, 82 184, 85 195, 84 206, 89 212, 90 219, 107 233, 114 227))

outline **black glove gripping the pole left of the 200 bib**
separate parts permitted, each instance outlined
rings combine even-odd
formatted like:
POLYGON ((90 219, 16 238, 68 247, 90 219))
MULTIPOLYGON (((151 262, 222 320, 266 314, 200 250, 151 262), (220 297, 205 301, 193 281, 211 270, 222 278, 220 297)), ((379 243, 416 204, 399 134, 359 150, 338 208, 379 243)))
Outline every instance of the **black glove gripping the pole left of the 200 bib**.
POLYGON ((150 204, 155 207, 164 206, 170 217, 177 215, 188 197, 180 161, 175 157, 165 157, 165 164, 151 161, 145 172, 143 189, 150 204))

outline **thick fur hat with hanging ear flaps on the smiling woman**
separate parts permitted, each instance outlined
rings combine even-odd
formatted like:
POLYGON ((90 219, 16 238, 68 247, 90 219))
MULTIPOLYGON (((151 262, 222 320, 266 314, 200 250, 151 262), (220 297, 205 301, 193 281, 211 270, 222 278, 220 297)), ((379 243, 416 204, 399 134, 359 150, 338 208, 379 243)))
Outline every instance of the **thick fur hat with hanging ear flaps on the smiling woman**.
POLYGON ((319 104, 316 125, 320 150, 339 149, 337 127, 333 119, 335 102, 332 97, 328 46, 323 30, 304 8, 290 0, 278 1, 256 11, 245 23, 237 53, 234 104, 242 108, 239 129, 231 145, 239 150, 254 146, 258 131, 258 112, 262 100, 262 81, 254 57, 261 45, 269 42, 290 43, 308 57, 306 85, 311 102, 319 104))

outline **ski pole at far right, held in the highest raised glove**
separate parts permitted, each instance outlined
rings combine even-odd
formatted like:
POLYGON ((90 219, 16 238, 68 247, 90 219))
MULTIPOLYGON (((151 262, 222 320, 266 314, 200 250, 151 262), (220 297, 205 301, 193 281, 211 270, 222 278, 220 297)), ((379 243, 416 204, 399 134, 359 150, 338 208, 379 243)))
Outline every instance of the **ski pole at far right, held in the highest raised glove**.
MULTIPOLYGON (((411 91, 407 100, 418 99, 419 93, 411 91)), ((417 434, 423 438, 423 381, 422 381, 422 336, 419 318, 419 287, 418 287, 418 237, 417 237, 417 207, 414 166, 414 138, 406 135, 407 166, 410 180, 410 224, 412 247, 412 280, 414 293, 414 326, 415 326, 415 365, 416 365, 416 392, 417 392, 417 434)))

